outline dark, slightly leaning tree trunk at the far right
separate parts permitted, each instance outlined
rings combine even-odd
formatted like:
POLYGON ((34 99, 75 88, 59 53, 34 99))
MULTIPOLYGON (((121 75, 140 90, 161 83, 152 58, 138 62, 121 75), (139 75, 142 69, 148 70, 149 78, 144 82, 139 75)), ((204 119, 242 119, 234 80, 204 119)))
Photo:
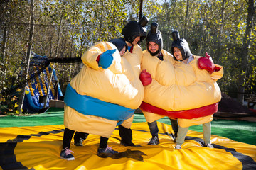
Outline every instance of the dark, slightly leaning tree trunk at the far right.
POLYGON ((247 74, 247 64, 249 61, 249 52, 248 49, 250 47, 250 35, 252 32, 252 22, 253 22, 253 15, 255 13, 254 8, 254 0, 248 1, 248 14, 247 14, 247 25, 245 30, 245 36, 243 38, 242 43, 242 50, 241 50, 241 57, 242 63, 240 67, 240 75, 238 77, 238 101, 243 103, 245 97, 245 77, 247 74))

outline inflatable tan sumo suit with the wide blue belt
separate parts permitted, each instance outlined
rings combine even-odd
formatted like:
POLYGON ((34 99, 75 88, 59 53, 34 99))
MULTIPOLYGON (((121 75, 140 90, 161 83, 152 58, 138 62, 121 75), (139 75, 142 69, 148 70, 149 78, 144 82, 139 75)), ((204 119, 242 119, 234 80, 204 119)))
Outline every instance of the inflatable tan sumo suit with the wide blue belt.
MULTIPOLYGON (((123 38, 116 40, 124 42, 123 38)), ((65 128, 109 138, 117 123, 131 118, 142 103, 144 89, 137 60, 129 59, 127 52, 120 57, 116 50, 107 69, 96 61, 103 52, 117 49, 116 40, 98 42, 82 55, 84 65, 65 93, 65 128)))

